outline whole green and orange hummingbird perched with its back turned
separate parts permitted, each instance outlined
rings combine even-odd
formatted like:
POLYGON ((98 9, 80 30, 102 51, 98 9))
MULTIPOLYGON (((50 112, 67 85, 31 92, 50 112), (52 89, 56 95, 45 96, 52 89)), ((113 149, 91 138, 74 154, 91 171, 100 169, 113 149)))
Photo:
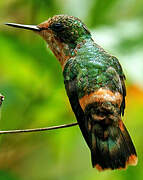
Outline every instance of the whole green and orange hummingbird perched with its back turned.
POLYGON ((137 164, 137 153, 123 124, 125 75, 115 56, 94 42, 77 17, 55 15, 39 25, 6 25, 39 34, 61 64, 65 89, 82 135, 99 171, 137 164))

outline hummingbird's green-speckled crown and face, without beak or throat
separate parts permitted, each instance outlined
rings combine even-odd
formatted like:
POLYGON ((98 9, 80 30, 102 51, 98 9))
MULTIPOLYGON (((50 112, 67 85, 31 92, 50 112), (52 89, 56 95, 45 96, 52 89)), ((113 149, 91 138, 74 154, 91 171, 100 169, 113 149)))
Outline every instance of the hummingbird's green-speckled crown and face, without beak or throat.
POLYGON ((75 46, 90 35, 90 32, 80 19, 67 15, 54 16, 37 27, 42 30, 40 34, 45 40, 48 39, 47 35, 54 36, 59 42, 69 46, 75 46))

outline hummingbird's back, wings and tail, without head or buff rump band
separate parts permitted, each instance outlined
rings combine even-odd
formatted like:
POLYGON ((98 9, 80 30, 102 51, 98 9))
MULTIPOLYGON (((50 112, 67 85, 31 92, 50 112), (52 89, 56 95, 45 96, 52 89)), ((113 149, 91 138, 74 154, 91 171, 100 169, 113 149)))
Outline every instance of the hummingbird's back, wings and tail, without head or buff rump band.
POLYGON ((67 61, 63 72, 71 106, 91 149, 93 166, 98 170, 125 168, 127 164, 135 163, 128 163, 129 157, 136 156, 129 134, 123 124, 126 134, 121 132, 119 124, 125 108, 125 76, 116 57, 105 52, 91 38, 82 43, 76 49, 76 56, 67 61), (93 102, 82 109, 80 99, 100 88, 118 92, 122 97, 120 107, 118 102, 112 103, 105 98, 101 103, 93 98, 93 102))

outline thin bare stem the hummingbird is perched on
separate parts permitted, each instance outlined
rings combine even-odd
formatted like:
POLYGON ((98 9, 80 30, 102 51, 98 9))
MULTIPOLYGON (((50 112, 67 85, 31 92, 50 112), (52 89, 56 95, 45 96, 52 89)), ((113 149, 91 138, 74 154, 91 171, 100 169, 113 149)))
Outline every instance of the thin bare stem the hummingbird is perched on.
POLYGON ((76 126, 78 123, 71 123, 71 124, 63 124, 59 126, 51 126, 45 128, 36 128, 36 129, 23 129, 23 130, 8 130, 8 131, 0 131, 0 134, 10 134, 10 133, 26 133, 26 132, 37 132, 37 131, 49 131, 53 129, 61 129, 76 126))

